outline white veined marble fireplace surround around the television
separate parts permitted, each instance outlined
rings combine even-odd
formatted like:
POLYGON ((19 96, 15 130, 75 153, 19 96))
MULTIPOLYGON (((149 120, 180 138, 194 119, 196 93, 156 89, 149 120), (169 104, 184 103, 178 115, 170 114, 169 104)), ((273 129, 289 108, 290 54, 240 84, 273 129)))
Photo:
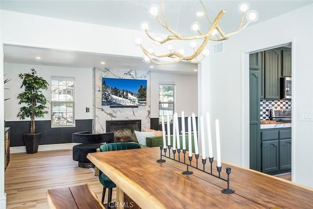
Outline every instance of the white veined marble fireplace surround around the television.
POLYGON ((107 121, 140 120, 140 129, 150 128, 150 71, 117 70, 109 68, 94 68, 94 133, 107 133, 107 121), (110 108, 102 106, 102 78, 127 78, 147 80, 147 103, 135 108, 110 108))

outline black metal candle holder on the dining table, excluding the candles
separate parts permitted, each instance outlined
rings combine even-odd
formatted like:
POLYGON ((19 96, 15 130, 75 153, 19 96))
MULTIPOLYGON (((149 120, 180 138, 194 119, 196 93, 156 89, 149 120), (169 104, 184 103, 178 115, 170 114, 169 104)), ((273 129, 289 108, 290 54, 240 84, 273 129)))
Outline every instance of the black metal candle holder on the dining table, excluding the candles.
POLYGON ((189 163, 186 163, 186 149, 182 149, 183 160, 180 159, 180 152, 181 152, 180 149, 173 149, 172 150, 173 156, 171 157, 171 145, 168 145, 167 147, 164 147, 164 149, 163 149, 163 146, 160 146, 160 159, 158 159, 156 162, 157 163, 165 162, 165 160, 162 159, 162 156, 163 156, 165 158, 168 158, 168 159, 174 160, 176 162, 185 164, 187 166, 187 170, 183 171, 182 174, 184 174, 184 175, 193 174, 193 172, 189 170, 189 167, 195 168, 197 170, 200 170, 200 171, 202 171, 204 173, 207 173, 207 174, 209 174, 211 176, 217 177, 217 178, 227 182, 227 188, 223 189, 221 191, 222 193, 229 194, 229 193, 234 193, 235 192, 234 189, 229 188, 229 182, 230 182, 229 175, 230 175, 230 172, 231 172, 231 168, 230 167, 226 167, 227 179, 224 179, 224 178, 221 177, 222 166, 217 166, 217 171, 219 173, 218 175, 215 175, 213 173, 213 168, 212 168, 212 164, 213 164, 213 161, 214 161, 213 157, 212 158, 210 158, 210 157, 208 158, 209 159, 209 163, 210 163, 210 172, 208 172, 208 171, 205 170, 205 165, 206 165, 206 160, 207 159, 202 159, 202 162, 201 162, 202 166, 200 168, 199 165, 198 165, 199 164, 199 154, 195 154, 196 163, 192 164, 193 156, 189 156, 189 153, 188 153, 189 163), (162 154, 162 150, 164 151, 164 154, 162 154), (167 150, 168 150, 168 155, 166 155, 167 150), (176 153, 178 153, 178 159, 175 157, 176 153))

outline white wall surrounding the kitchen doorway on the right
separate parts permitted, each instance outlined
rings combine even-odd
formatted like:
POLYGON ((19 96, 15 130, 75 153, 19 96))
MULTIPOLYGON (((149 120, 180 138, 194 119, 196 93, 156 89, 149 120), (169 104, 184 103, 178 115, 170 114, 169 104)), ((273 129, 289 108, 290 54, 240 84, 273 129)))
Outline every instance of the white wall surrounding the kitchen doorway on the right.
POLYGON ((292 42, 292 180, 311 187, 313 122, 299 121, 298 113, 313 111, 312 13, 313 4, 250 25, 224 42, 223 53, 202 63, 199 77, 199 86, 207 86, 209 91, 209 97, 199 104, 200 111, 220 119, 222 161, 248 167, 248 53, 292 42))

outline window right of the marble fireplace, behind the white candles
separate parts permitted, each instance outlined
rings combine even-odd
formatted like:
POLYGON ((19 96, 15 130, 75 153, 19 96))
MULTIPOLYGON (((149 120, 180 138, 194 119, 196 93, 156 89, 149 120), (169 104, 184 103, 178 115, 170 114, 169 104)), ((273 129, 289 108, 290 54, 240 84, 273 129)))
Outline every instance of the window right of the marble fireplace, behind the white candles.
POLYGON ((164 121, 167 122, 167 112, 169 113, 170 121, 173 121, 175 85, 159 84, 158 97, 159 122, 161 122, 161 116, 164 116, 164 121))

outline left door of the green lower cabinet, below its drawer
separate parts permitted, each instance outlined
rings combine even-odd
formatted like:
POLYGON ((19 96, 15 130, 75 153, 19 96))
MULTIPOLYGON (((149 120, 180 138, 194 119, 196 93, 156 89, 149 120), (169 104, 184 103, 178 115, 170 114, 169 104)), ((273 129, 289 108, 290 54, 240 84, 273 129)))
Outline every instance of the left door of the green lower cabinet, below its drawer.
POLYGON ((262 172, 279 170, 279 140, 262 141, 262 172))

